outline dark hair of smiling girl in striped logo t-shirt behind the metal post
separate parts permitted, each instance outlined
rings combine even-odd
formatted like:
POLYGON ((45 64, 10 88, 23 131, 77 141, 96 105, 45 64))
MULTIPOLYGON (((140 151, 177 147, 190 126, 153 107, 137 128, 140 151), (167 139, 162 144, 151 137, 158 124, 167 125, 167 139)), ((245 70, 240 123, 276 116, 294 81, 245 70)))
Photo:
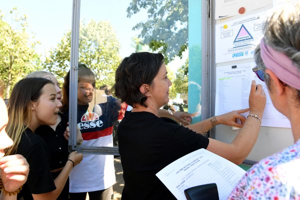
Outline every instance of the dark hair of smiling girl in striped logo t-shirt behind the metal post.
MULTIPOLYGON (((82 77, 90 76, 95 79, 95 74, 85 65, 82 63, 78 64, 78 81, 82 77)), ((62 86, 62 112, 68 111, 68 104, 69 104, 69 85, 70 85, 70 71, 64 76, 64 82, 62 86)), ((94 85, 93 85, 94 86, 94 85)))

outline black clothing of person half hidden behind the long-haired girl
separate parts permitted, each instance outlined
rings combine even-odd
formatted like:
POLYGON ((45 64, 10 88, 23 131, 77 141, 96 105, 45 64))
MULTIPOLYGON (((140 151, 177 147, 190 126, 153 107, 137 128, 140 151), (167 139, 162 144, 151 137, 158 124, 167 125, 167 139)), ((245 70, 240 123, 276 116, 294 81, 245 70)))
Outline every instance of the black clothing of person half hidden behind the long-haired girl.
MULTIPOLYGON (((41 125, 35 130, 35 134, 41 136, 49 149, 50 154, 50 169, 58 169, 65 165, 68 158, 68 141, 64 138, 63 132, 67 126, 67 119, 62 113, 59 113, 61 121, 57 124, 55 130, 49 125, 41 125)), ((55 179, 61 170, 51 172, 53 179, 55 179)), ((66 180, 62 191, 57 199, 68 199, 69 180, 66 180)))

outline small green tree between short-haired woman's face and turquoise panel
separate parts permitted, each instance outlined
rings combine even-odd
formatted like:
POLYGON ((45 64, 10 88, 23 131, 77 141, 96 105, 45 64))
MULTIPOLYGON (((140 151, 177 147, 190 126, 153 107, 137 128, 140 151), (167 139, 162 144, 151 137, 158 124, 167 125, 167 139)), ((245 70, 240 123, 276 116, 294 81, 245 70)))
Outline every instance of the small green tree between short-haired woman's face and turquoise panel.
POLYGON ((173 82, 176 93, 187 93, 188 87, 188 59, 185 63, 177 70, 176 77, 173 82))

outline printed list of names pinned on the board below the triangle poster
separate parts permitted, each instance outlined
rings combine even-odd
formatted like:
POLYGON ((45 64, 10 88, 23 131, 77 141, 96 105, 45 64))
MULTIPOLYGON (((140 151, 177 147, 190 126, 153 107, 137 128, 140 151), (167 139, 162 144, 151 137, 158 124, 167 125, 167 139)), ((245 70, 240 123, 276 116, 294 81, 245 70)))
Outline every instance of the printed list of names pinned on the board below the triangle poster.
POLYGON ((233 68, 232 65, 216 67, 215 115, 249 107, 251 81, 255 80, 256 84, 263 86, 266 94, 261 125, 290 128, 289 120, 273 106, 265 83, 252 71, 254 66, 255 62, 249 62, 234 65, 233 68))

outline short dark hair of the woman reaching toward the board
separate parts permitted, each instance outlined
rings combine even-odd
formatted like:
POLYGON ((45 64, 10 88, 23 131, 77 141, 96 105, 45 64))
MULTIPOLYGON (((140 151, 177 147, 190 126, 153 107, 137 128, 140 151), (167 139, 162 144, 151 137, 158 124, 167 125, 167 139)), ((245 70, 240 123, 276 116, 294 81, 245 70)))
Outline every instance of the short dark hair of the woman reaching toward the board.
POLYGON ((147 107, 147 96, 140 92, 139 87, 152 84, 163 62, 161 53, 137 52, 125 57, 115 71, 112 86, 115 96, 132 107, 136 103, 147 107))

